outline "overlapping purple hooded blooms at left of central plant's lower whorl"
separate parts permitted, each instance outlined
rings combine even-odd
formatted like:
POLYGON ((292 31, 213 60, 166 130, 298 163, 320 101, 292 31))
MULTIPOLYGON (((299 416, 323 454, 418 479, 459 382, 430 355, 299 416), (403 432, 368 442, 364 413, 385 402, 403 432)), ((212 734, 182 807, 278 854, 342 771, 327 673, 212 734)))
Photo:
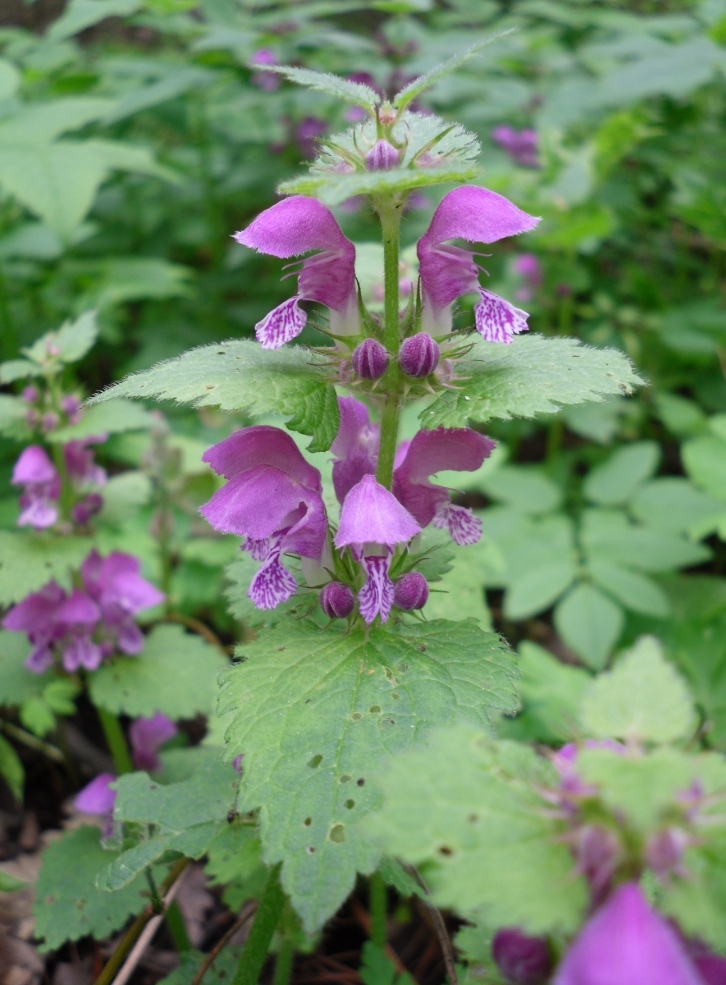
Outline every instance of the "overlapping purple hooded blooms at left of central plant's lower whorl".
POLYGON ((200 513, 216 530, 245 538, 243 549, 263 562, 247 594, 258 609, 274 609, 297 590, 280 556, 322 556, 328 524, 320 473, 289 435, 267 425, 236 431, 202 457, 229 481, 200 513))

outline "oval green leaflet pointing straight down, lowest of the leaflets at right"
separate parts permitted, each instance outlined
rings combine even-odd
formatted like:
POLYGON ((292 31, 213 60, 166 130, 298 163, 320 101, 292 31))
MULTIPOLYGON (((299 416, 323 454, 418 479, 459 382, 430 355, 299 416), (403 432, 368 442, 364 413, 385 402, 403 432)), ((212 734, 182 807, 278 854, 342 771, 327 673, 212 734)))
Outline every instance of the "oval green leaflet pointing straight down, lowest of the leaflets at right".
POLYGON ((624 621, 620 606, 584 582, 576 585, 555 609, 557 632, 595 670, 607 663, 624 621))

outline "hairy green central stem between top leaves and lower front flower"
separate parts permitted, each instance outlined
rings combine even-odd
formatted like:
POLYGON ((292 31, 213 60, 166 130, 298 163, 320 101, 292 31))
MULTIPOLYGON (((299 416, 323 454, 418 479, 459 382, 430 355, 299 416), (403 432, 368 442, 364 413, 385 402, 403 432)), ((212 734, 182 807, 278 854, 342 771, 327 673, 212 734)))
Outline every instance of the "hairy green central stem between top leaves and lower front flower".
POLYGON ((387 396, 381 417, 381 441, 376 479, 386 489, 390 489, 393 480, 393 460, 396 456, 398 422, 401 415, 401 371, 396 362, 401 344, 398 317, 400 304, 398 257, 401 215, 399 208, 392 199, 379 205, 378 215, 383 232, 383 342, 393 360, 383 379, 387 396))

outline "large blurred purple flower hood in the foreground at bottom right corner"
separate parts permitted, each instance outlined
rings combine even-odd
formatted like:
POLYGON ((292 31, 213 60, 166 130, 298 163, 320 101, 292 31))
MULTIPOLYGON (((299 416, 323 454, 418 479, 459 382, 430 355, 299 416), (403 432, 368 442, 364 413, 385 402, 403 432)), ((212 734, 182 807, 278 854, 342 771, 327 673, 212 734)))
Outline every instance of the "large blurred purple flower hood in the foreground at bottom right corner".
POLYGON ((553 985, 703 985, 676 932, 629 882, 580 931, 553 985))

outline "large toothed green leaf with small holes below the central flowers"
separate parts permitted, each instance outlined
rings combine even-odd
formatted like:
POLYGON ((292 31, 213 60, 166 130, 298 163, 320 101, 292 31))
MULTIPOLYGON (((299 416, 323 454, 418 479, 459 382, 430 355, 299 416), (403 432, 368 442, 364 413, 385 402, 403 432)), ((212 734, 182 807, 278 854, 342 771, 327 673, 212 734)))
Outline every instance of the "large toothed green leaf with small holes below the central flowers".
POLYGON ((239 810, 260 808, 263 858, 304 926, 321 926, 372 872, 360 831, 376 802, 372 776, 430 728, 487 725, 516 707, 502 641, 473 621, 372 627, 279 625, 241 649, 224 676, 220 714, 234 713, 228 756, 244 754, 239 810))

